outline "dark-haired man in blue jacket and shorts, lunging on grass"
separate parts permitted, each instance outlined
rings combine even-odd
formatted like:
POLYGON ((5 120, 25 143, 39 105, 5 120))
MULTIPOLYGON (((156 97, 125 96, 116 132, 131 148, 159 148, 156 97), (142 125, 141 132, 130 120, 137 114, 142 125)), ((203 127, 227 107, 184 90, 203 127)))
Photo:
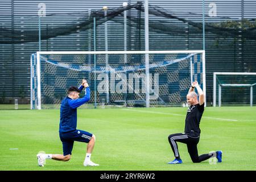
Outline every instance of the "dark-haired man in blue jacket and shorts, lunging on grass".
POLYGON ((71 159, 74 141, 88 143, 84 166, 99 166, 90 160, 94 143, 96 141, 95 135, 87 131, 77 130, 77 107, 85 104, 90 100, 90 89, 86 80, 82 80, 82 84, 77 88, 71 86, 68 89, 68 96, 61 101, 60 106, 60 140, 63 144, 62 154, 38 154, 38 165, 44 166, 46 159, 54 159, 61 161, 68 161, 71 159), (79 98, 79 93, 85 88, 85 96, 79 98))

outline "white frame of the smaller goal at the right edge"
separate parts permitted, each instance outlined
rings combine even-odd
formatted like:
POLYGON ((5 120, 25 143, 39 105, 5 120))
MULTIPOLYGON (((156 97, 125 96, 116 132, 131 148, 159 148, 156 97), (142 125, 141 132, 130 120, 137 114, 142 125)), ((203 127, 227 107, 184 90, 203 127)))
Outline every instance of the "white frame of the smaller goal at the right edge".
MULTIPOLYGON (((216 78, 217 75, 255 75, 256 73, 243 73, 243 72, 213 72, 213 107, 216 107, 216 89, 217 83, 216 78)), ((236 86, 236 87, 250 87, 250 106, 253 106, 253 86, 254 84, 218 84, 218 106, 221 107, 221 87, 222 86, 236 86)))

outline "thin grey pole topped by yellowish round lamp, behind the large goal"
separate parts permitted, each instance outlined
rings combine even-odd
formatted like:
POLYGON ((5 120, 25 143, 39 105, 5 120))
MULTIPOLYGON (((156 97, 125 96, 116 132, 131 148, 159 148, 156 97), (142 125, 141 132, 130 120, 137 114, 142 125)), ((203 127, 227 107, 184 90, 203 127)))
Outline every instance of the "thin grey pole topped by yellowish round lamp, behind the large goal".
MULTIPOLYGON (((107 15, 108 15, 108 6, 103 6, 102 8, 104 10, 104 16, 105 16, 105 51, 108 51, 108 22, 107 22, 107 15)), ((106 61, 106 68, 108 68, 109 64, 109 55, 105 55, 105 61, 106 61)), ((106 103, 109 103, 109 73, 106 72, 106 103)))

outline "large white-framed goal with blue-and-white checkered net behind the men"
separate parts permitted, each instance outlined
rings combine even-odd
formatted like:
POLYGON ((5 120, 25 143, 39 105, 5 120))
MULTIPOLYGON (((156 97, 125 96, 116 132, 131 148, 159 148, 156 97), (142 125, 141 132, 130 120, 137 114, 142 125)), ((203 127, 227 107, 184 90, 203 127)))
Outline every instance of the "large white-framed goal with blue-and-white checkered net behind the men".
POLYGON ((184 106, 192 81, 205 92, 204 51, 36 52, 31 109, 59 108, 67 89, 82 78, 91 90, 82 107, 146 106, 147 100, 150 106, 184 106))

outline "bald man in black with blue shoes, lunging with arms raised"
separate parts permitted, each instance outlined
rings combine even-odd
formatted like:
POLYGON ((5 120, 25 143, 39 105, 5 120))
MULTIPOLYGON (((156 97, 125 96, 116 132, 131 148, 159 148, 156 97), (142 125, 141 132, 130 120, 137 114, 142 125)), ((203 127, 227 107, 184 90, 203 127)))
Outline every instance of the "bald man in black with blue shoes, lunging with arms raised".
POLYGON ((168 164, 182 163, 176 142, 187 144, 188 153, 193 163, 200 163, 213 156, 216 156, 218 162, 221 162, 222 151, 216 151, 211 154, 203 154, 200 156, 198 155, 197 143, 199 143, 201 132, 199 124, 201 117, 204 113, 204 93, 197 81, 193 82, 191 88, 189 89, 189 92, 187 94, 187 102, 190 106, 187 110, 184 133, 171 134, 168 137, 169 143, 175 156, 175 159, 168 164), (197 100, 197 94, 196 92, 194 92, 195 88, 199 93, 199 100, 197 100))

